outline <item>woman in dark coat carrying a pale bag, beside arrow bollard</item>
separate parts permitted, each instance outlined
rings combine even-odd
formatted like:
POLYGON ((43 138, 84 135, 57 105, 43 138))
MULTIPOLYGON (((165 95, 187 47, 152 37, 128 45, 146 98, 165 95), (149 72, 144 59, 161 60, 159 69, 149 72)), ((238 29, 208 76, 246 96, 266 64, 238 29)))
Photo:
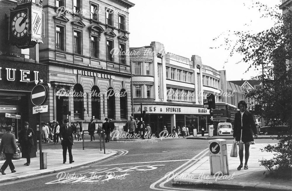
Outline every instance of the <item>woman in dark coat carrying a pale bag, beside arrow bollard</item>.
POLYGON ((235 114, 233 137, 235 141, 237 141, 239 147, 240 165, 237 167, 237 170, 240 170, 243 167, 243 147, 245 150, 244 169, 248 169, 249 146, 255 144, 253 134, 255 137, 258 137, 258 134, 252 114, 246 111, 247 104, 245 101, 239 101, 237 107, 240 111, 235 114))

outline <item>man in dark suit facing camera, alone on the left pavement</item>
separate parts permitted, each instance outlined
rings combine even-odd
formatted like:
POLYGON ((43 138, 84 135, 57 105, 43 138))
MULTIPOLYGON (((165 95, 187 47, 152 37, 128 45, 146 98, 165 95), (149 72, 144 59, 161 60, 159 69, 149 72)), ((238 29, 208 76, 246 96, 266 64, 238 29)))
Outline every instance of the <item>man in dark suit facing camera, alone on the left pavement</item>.
POLYGON ((61 145, 63 149, 63 164, 66 163, 67 160, 67 148, 69 153, 69 163, 73 163, 73 156, 72 156, 72 145, 73 143, 73 130, 72 127, 69 126, 69 121, 67 119, 64 120, 65 126, 60 128, 60 139, 61 145))

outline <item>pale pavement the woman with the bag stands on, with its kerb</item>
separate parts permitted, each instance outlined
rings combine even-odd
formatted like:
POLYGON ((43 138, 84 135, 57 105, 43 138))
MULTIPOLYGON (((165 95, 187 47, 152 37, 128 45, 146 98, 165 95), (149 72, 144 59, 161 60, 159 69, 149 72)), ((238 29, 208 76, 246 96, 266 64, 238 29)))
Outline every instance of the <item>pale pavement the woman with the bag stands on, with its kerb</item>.
MULTIPOLYGON (((244 190, 292 190, 292 182, 287 179, 276 179, 266 177, 269 172, 259 165, 259 160, 271 159, 274 153, 261 152, 267 144, 255 144, 250 146, 250 156, 248 160, 248 169, 239 166, 239 156, 230 157, 232 145, 227 145, 229 175, 220 175, 219 172, 213 172, 211 175, 209 156, 201 158, 181 174, 175 175, 173 179, 174 186, 192 186, 204 188, 233 188, 244 190)), ((208 152, 210 153, 210 152, 208 152)), ((208 155, 208 154, 207 154, 208 155)), ((244 162, 244 161, 243 161, 244 162)))

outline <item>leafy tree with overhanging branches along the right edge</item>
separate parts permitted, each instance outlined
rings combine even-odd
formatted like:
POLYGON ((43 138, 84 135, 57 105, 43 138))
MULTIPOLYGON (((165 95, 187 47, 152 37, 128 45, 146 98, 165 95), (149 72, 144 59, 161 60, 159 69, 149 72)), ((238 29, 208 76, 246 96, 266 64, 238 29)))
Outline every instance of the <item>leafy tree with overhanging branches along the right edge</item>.
MULTIPOLYGON (((225 43, 220 46, 228 47, 230 56, 235 53, 242 55, 242 60, 249 64, 247 71, 251 68, 259 70, 265 66, 273 66, 266 73, 256 76, 264 83, 264 88, 246 92, 246 97, 254 98, 256 104, 262 105, 261 115, 267 123, 288 125, 289 131, 277 137, 277 145, 268 145, 263 149, 277 153, 271 160, 260 160, 260 164, 266 167, 271 175, 279 177, 283 172, 287 172, 291 178, 292 10, 288 8, 287 13, 283 15, 276 11, 278 6, 270 8, 259 2, 253 3, 252 8, 258 8, 263 13, 261 17, 274 20, 273 27, 259 33, 231 32, 230 35, 235 35, 237 40, 232 41, 227 37, 224 39, 225 43)), ((284 173, 284 176, 287 174, 284 173)))

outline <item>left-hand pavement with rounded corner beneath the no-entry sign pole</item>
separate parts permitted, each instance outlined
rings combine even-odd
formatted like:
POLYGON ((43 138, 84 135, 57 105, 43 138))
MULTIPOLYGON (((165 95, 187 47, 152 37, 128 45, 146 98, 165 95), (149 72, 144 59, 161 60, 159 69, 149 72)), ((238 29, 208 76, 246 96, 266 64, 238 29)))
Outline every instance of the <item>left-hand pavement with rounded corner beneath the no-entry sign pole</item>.
MULTIPOLYGON (((67 162, 63 164, 62 149, 43 149, 42 152, 47 153, 47 169, 40 170, 39 156, 31 158, 29 166, 24 165, 24 163, 26 163, 26 158, 12 160, 16 172, 11 173, 9 167, 7 167, 5 170, 6 175, 0 174, 0 182, 14 181, 74 169, 104 160, 117 154, 116 151, 109 149, 105 150, 105 154, 103 149, 100 151, 100 148, 84 150, 72 149, 73 160, 75 162, 69 164, 69 155, 67 152, 67 162)), ((4 162, 5 160, 0 160, 0 165, 2 166, 4 162)))

